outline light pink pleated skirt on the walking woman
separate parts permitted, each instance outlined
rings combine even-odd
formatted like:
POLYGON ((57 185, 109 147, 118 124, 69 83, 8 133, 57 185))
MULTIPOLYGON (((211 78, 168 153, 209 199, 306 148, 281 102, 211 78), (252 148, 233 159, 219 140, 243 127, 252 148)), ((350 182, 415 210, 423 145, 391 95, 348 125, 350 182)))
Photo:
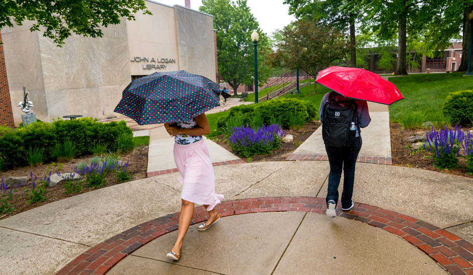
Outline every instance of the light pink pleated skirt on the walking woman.
POLYGON ((174 162, 181 173, 181 198, 212 210, 223 195, 215 194, 215 174, 210 162, 209 149, 201 139, 191 144, 174 143, 174 162))

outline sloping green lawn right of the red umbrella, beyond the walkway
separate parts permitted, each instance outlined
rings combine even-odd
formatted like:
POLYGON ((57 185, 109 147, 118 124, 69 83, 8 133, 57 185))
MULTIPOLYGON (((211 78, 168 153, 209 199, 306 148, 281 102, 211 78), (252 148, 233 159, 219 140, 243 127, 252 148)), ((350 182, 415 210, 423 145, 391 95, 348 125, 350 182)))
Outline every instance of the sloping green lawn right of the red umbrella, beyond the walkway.
POLYGON ((473 76, 463 76, 461 72, 411 74, 391 77, 404 100, 389 106, 389 117, 392 122, 399 122, 402 114, 409 111, 423 112, 427 121, 442 110, 443 101, 449 93, 473 88, 473 76))

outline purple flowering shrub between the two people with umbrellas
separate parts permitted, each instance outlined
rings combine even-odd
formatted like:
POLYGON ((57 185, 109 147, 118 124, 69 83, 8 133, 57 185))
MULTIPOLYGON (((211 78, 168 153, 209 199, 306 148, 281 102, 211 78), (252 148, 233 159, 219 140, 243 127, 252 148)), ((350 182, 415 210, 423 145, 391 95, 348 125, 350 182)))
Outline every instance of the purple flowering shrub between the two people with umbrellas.
POLYGON ((271 154, 271 150, 281 146, 281 137, 286 133, 277 124, 263 126, 256 131, 246 125, 233 127, 228 137, 231 149, 246 158, 255 155, 271 154))

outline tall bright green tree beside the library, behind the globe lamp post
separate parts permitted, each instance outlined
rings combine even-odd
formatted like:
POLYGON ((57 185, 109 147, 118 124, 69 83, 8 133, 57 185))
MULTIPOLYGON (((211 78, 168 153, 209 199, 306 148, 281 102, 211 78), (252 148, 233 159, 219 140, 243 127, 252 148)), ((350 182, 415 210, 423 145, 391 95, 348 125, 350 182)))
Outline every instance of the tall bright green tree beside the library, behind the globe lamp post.
POLYGON ((269 40, 250 12, 246 0, 202 0, 199 10, 213 16, 217 36, 218 74, 233 88, 252 84, 254 75, 254 46, 251 33, 256 30, 258 40, 258 85, 268 79, 270 69, 264 66, 264 57, 270 50, 269 40))

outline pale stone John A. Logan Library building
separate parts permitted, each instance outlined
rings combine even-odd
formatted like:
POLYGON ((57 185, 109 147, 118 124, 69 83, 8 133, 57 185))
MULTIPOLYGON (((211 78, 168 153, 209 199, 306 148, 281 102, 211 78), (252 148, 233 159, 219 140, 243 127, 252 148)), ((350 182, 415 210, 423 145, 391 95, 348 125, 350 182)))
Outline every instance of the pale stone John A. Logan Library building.
POLYGON ((216 81, 213 18, 187 7, 146 0, 152 13, 136 14, 103 29, 102 38, 72 35, 62 48, 32 23, 5 27, 0 41, 0 125, 18 126, 23 87, 42 121, 66 115, 99 120, 114 113, 134 78, 156 71, 186 70, 216 81))

